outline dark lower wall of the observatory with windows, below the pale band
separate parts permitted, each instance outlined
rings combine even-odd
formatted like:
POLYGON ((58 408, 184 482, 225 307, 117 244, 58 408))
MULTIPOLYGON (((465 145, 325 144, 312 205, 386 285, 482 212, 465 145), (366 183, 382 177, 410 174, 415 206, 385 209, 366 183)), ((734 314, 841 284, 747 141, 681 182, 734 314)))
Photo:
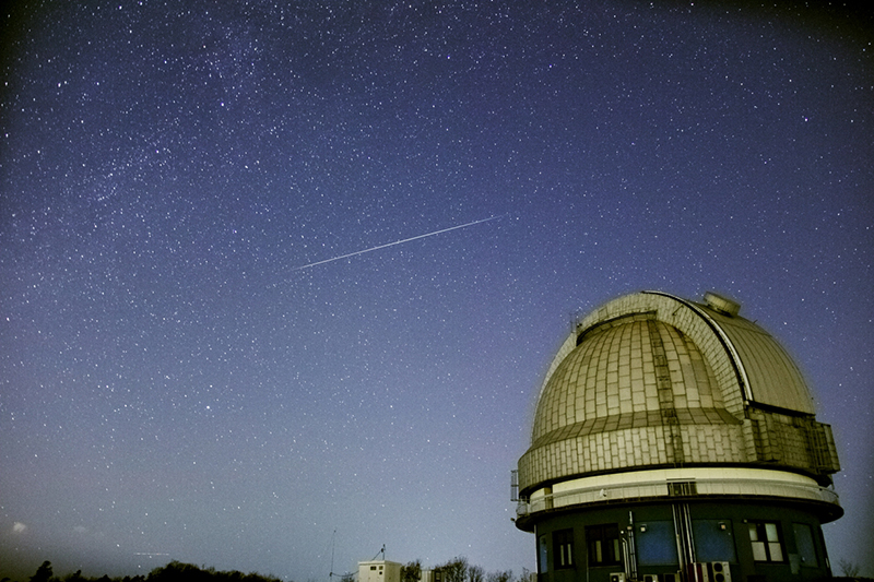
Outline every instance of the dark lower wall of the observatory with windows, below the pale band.
POLYGON ((543 512, 540 582, 813 582, 831 578, 803 506, 677 500, 543 512))

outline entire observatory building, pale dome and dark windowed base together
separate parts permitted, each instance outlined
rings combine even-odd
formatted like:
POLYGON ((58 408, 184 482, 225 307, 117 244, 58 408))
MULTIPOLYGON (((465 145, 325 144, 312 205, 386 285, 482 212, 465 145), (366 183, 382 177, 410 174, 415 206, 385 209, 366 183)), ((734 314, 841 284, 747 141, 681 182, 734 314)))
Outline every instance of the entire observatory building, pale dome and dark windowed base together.
POLYGON ((558 348, 513 484, 540 582, 830 578, 831 429, 739 311, 710 293, 637 293, 558 348))

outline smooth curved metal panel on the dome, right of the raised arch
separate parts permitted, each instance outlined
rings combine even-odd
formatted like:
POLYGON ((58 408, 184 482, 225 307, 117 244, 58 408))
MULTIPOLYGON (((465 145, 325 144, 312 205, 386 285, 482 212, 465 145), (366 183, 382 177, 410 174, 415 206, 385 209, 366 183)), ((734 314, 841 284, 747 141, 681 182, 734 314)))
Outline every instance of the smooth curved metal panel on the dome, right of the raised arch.
POLYGON ((807 383, 773 336, 743 318, 729 318, 711 309, 707 309, 707 313, 734 345, 754 402, 815 414, 807 383))

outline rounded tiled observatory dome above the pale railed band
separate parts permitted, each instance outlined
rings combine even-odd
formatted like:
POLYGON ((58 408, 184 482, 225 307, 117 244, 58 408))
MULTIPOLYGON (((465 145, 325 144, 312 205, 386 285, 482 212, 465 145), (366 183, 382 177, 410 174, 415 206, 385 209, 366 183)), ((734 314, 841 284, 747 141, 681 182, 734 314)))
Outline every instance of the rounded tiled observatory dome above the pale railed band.
POLYGON ((739 304, 710 293, 702 302, 627 295, 580 321, 554 357, 519 494, 533 502, 580 487, 603 492, 598 476, 695 467, 698 478, 708 468, 743 467, 745 478, 771 471, 764 480, 777 470, 817 489, 839 465, 830 427, 814 413, 798 366, 739 304))

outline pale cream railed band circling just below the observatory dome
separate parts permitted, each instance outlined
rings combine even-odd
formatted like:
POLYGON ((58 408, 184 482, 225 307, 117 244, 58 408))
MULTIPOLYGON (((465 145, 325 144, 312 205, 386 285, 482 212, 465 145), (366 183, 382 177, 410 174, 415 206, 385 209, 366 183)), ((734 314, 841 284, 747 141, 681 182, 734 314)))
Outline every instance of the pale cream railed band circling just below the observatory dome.
MULTIPOLYGON (((570 491, 518 499, 516 513, 529 515, 547 509, 580 503, 634 501, 652 497, 764 496, 807 499, 839 506, 838 494, 827 487, 777 479, 692 479, 641 482, 611 486, 581 487, 570 491)), ((517 499, 513 499, 516 501, 517 499)))

